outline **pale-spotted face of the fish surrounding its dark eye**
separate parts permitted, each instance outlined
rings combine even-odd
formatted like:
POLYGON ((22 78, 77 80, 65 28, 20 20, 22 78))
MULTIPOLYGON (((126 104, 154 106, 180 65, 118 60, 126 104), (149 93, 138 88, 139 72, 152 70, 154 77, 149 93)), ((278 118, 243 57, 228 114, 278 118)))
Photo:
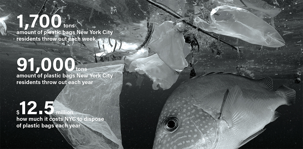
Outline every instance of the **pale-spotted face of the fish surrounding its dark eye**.
POLYGON ((179 130, 175 133, 175 131, 161 131, 161 127, 157 128, 156 132, 161 132, 156 134, 159 135, 161 141, 158 139, 154 142, 158 149, 191 148, 195 145, 210 148, 215 144, 219 132, 216 121, 210 114, 195 106, 194 102, 195 99, 180 99, 178 97, 167 101, 163 107, 164 112, 159 117, 158 125, 161 125, 167 117, 178 116, 180 121, 177 129, 179 130), (188 144, 193 145, 188 146, 188 144))

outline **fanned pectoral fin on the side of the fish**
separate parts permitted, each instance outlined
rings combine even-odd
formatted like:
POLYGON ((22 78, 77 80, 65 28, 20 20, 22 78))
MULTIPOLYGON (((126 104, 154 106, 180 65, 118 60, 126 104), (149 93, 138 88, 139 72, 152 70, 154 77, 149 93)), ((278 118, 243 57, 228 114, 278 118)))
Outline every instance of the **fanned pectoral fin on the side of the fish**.
POLYGON ((220 119, 225 120, 229 128, 235 127, 243 120, 244 107, 245 101, 242 96, 242 91, 240 87, 236 85, 228 92, 220 119))

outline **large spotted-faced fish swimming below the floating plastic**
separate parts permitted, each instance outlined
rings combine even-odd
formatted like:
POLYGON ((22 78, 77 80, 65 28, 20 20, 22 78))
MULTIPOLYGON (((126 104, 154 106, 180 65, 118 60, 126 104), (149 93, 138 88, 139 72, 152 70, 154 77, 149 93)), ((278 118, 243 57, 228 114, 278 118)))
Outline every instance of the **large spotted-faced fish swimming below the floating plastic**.
POLYGON ((165 102, 153 148, 239 148, 281 116, 280 105, 295 104, 295 90, 272 89, 270 77, 219 72, 188 79, 165 102))

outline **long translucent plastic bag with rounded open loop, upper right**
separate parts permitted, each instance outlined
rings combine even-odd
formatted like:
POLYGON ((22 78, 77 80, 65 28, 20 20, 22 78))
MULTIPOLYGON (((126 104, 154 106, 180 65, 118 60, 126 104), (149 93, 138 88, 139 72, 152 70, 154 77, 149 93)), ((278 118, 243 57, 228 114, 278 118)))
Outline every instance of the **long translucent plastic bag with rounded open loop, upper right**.
POLYGON ((209 24, 197 17, 194 25, 205 31, 236 37, 252 44, 267 47, 285 45, 285 41, 275 28, 245 9, 222 5, 214 8, 210 15, 209 24), (216 12, 220 15, 214 15, 216 12))

